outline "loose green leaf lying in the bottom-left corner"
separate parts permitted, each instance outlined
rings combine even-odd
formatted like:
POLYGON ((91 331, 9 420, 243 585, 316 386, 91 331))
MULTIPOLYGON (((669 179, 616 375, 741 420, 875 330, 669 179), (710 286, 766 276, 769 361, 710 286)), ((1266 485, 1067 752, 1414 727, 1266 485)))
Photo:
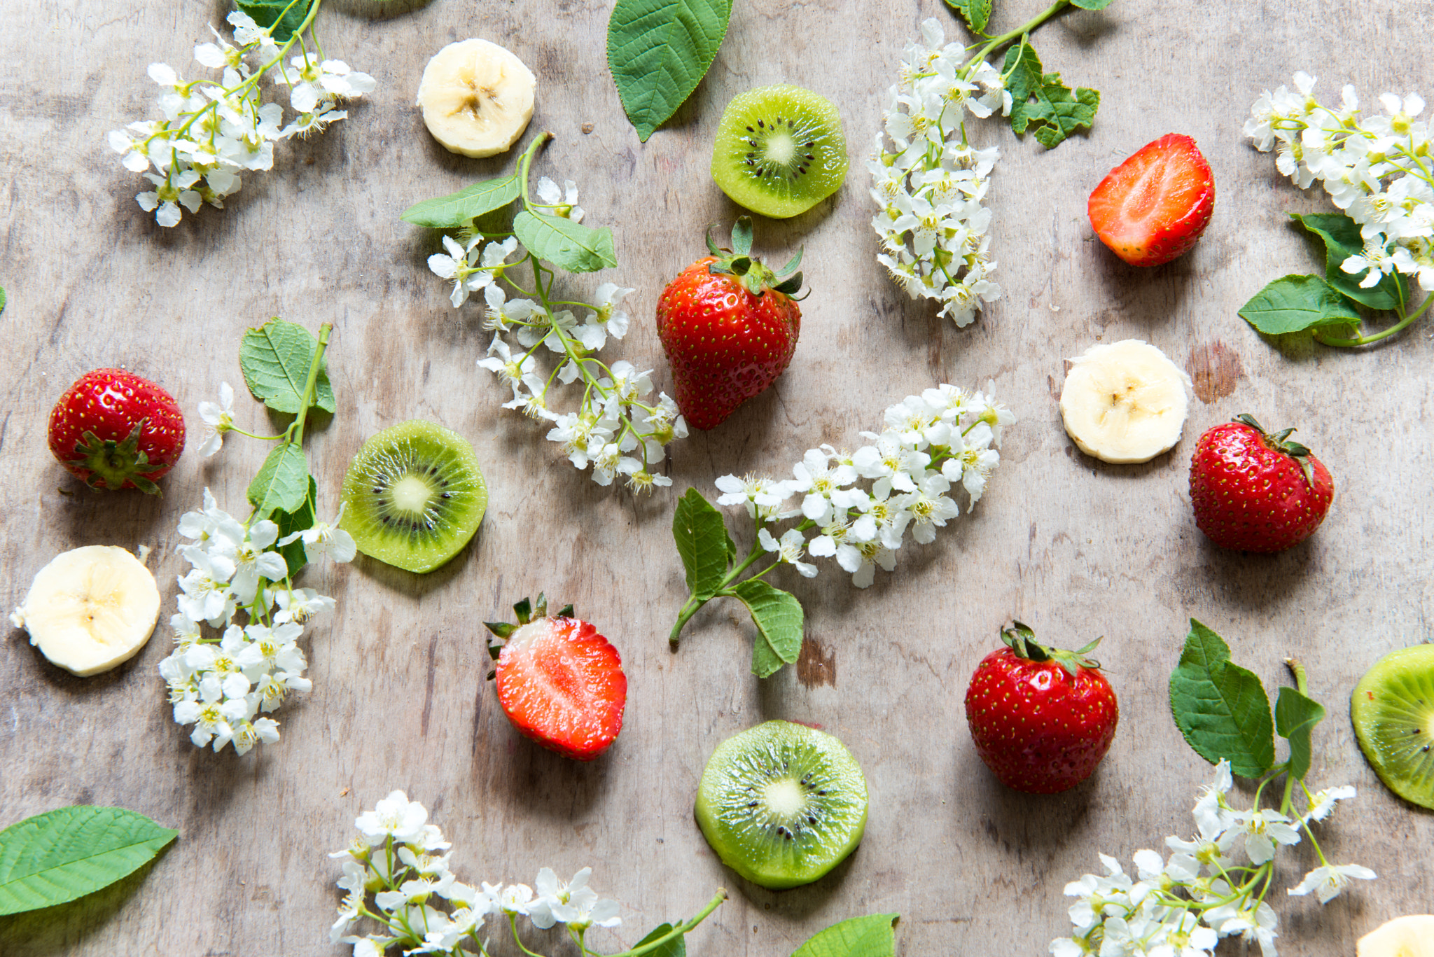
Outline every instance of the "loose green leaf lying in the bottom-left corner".
POLYGON ((0 831, 0 914, 53 907, 109 887, 175 839, 142 814, 76 805, 0 831))

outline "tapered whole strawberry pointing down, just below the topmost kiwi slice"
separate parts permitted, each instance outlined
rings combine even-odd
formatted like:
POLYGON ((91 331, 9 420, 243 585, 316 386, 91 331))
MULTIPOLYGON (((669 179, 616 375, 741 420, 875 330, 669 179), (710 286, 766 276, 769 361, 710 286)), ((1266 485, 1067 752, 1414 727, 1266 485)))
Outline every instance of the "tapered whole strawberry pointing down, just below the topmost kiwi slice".
POLYGON ((711 255, 683 270, 657 300, 657 334, 673 366, 677 405, 698 429, 720 425, 764 392, 792 362, 802 310, 792 294, 802 274, 777 283, 802 261, 773 273, 751 258, 751 220, 731 228, 731 250, 707 237, 711 255))

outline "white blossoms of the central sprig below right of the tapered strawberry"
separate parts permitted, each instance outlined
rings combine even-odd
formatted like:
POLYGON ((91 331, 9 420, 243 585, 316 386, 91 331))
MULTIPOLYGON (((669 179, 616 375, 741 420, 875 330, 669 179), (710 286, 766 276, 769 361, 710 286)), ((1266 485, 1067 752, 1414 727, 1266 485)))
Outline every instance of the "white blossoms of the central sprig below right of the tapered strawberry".
POLYGON ((777 562, 789 562, 807 578, 816 565, 802 561, 803 551, 836 558, 852 572, 852 584, 866 588, 876 567, 896 567, 896 550, 903 537, 931 542, 936 528, 961 515, 948 492, 956 485, 967 491, 969 505, 985 492, 991 472, 1001 462, 1001 429, 1015 422, 1015 413, 987 393, 967 392, 942 383, 919 396, 906 396, 886 409, 885 429, 862 432, 872 445, 855 453, 830 445, 809 449, 792 473, 794 478, 717 479, 723 495, 718 505, 746 505, 759 525, 757 539, 777 562), (859 482, 870 482, 870 489, 859 482), (802 496, 800 506, 786 509, 787 499, 802 496), (800 518, 780 538, 764 525, 800 518), (807 531, 816 532, 810 539, 807 531))

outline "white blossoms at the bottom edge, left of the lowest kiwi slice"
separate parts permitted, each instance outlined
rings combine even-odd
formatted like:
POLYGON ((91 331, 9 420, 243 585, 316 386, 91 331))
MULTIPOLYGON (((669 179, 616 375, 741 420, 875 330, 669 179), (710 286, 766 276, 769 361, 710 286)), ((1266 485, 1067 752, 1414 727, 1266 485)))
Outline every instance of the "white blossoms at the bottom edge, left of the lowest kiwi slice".
POLYGON ((542 868, 533 881, 536 894, 526 884, 462 884, 449 869, 453 845, 427 821, 427 809, 402 791, 358 815, 358 838, 328 855, 343 861, 338 887, 347 892, 330 941, 353 944, 354 957, 379 957, 390 947, 402 947, 403 954, 486 954, 479 930, 489 917, 525 915, 539 930, 566 924, 579 940, 589 927, 622 923, 617 901, 599 900, 588 887, 592 868, 582 868, 571 881, 542 868), (445 904, 447 913, 439 910, 445 904), (348 934, 360 918, 377 921, 383 930, 348 934))

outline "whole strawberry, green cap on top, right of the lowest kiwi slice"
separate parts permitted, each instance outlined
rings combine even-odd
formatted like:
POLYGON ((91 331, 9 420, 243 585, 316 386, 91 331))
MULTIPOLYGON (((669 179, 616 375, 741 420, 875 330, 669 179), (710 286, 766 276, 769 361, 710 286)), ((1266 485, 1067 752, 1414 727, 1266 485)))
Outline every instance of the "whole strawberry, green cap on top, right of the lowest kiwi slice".
POLYGON ((1021 624, 1001 631, 1007 647, 981 660, 967 689, 967 723, 977 753, 1008 788, 1055 793, 1090 778, 1110 750, 1120 707, 1100 664, 1080 651, 1035 643, 1021 624))

